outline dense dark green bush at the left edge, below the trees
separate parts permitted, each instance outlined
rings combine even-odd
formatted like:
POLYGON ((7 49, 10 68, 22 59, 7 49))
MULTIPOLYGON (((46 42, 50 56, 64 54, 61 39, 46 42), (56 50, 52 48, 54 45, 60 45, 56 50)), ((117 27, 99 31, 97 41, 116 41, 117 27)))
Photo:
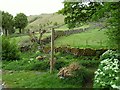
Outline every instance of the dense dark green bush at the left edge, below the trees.
POLYGON ((8 37, 2 36, 2 60, 19 60, 20 51, 17 44, 11 42, 8 37))

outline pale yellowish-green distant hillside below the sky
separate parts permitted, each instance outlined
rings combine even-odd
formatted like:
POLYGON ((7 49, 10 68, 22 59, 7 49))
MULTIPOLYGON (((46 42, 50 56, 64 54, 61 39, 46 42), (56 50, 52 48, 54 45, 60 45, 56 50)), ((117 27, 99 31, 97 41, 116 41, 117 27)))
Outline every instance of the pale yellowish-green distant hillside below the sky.
POLYGON ((39 29, 42 27, 52 26, 55 23, 58 25, 64 24, 64 16, 56 13, 53 14, 41 14, 41 15, 30 15, 28 16, 28 28, 39 29))

